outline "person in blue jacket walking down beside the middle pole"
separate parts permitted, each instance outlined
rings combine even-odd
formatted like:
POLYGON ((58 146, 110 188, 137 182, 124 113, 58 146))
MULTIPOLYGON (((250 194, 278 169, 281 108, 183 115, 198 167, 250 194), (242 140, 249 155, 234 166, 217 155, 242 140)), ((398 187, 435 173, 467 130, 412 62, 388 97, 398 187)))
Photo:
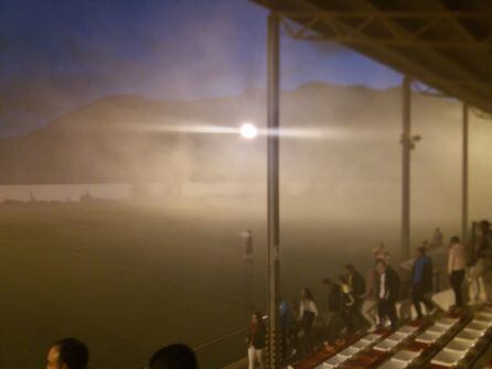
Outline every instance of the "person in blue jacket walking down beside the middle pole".
POLYGON ((426 305, 427 312, 431 312, 434 303, 426 295, 432 292, 432 260, 426 254, 426 249, 417 249, 417 259, 411 267, 411 301, 414 302, 417 317, 421 318, 421 305, 426 305))

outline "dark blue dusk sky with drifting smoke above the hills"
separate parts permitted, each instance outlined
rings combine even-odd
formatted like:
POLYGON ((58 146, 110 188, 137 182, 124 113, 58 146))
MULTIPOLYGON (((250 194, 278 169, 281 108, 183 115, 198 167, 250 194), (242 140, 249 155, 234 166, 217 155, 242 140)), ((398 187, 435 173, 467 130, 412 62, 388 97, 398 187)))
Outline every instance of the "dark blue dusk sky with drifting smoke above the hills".
MULTIPOLYGON (((0 133, 111 94, 196 99, 265 86, 267 11, 247 0, 0 0, 0 133)), ((285 88, 384 88, 399 75, 343 47, 282 39, 285 88)))

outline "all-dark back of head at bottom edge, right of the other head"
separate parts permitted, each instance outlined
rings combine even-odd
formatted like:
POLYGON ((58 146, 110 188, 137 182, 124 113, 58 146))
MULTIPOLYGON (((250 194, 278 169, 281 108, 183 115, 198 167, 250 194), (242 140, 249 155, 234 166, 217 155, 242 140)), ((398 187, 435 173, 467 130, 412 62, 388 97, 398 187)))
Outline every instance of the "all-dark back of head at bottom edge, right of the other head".
POLYGON ((169 345, 152 355, 148 369, 199 369, 195 354, 183 344, 169 345))

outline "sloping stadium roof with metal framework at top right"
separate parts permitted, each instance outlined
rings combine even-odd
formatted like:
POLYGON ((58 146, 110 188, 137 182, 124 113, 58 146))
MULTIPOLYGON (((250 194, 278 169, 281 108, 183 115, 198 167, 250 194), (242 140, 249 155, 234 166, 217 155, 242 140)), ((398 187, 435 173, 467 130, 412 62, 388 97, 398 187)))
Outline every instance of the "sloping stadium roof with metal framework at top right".
POLYGON ((295 39, 344 44, 492 113, 492 1, 253 1, 295 39))

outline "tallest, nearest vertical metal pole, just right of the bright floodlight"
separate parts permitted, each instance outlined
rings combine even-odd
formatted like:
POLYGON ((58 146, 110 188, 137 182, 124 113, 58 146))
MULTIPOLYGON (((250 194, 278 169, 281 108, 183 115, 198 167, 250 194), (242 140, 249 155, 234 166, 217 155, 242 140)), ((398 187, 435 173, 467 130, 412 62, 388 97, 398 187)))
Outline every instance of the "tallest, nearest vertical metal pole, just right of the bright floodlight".
POLYGON ((279 218, 279 89, 280 89, 280 22, 268 17, 268 368, 280 368, 279 345, 279 282, 280 282, 280 218, 279 218))

